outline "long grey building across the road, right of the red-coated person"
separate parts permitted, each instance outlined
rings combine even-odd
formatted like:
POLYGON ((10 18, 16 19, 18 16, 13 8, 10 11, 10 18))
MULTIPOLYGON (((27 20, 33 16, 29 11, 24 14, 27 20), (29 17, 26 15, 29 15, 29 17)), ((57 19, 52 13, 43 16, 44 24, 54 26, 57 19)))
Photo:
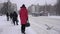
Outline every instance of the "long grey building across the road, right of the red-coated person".
POLYGON ((40 15, 40 16, 52 16, 52 15, 54 16, 54 15, 57 15, 56 9, 57 9, 56 5, 54 5, 54 6, 52 6, 52 5, 41 6, 41 5, 37 4, 37 5, 33 5, 33 6, 31 5, 29 7, 30 13, 34 13, 34 14, 37 14, 37 15, 40 15))

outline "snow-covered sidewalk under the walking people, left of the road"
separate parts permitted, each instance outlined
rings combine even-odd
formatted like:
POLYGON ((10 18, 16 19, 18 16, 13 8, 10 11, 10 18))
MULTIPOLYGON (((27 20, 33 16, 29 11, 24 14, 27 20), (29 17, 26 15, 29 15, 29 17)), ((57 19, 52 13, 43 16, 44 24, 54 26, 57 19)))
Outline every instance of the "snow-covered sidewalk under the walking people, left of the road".
MULTIPOLYGON (((5 16, 0 16, 0 34, 21 34, 21 25, 13 25, 11 21, 6 21, 5 16)), ((26 28, 26 34, 36 34, 31 28, 26 28)))

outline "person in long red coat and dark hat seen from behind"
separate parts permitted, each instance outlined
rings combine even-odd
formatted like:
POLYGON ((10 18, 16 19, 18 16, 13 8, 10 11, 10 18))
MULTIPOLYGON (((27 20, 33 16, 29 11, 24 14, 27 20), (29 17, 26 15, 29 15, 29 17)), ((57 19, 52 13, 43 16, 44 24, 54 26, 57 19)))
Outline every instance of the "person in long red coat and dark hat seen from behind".
POLYGON ((20 9, 20 20, 21 20, 21 32, 25 34, 25 25, 28 20, 28 11, 24 4, 20 9))

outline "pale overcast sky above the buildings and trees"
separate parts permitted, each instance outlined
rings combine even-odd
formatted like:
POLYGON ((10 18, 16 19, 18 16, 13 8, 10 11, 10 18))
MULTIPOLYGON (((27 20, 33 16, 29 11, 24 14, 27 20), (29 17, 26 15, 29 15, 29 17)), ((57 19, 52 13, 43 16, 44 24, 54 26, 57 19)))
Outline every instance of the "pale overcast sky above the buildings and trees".
MULTIPOLYGON (((7 0, 0 0, 1 2, 6 2, 7 0)), ((17 8, 19 10, 19 8, 21 7, 22 4, 25 4, 26 7, 30 6, 31 4, 38 4, 39 5, 45 5, 47 4, 51 4, 54 5, 56 4, 57 0, 10 0, 12 3, 16 3, 17 4, 17 8)))

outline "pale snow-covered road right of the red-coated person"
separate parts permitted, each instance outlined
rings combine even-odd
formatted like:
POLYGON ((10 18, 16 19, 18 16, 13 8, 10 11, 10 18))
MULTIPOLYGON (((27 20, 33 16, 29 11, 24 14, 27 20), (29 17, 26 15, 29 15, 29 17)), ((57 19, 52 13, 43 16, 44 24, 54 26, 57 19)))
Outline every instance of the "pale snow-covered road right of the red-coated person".
POLYGON ((46 16, 34 17, 30 15, 29 20, 37 34, 60 34, 60 19, 52 19, 46 16))

